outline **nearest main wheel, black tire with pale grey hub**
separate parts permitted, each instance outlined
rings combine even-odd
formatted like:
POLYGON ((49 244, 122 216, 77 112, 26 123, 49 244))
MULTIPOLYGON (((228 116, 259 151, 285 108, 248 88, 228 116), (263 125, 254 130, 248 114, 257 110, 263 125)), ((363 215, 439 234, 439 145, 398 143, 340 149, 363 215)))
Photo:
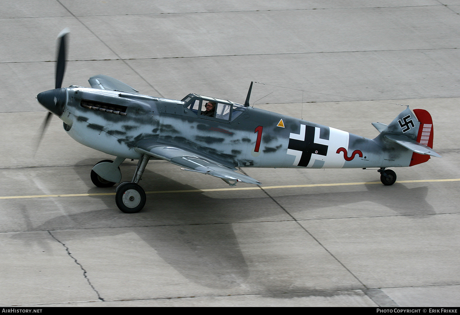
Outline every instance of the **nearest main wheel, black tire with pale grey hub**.
POLYGON ((137 213, 144 208, 145 192, 142 187, 134 183, 126 183, 118 188, 115 195, 115 203, 124 213, 137 213))

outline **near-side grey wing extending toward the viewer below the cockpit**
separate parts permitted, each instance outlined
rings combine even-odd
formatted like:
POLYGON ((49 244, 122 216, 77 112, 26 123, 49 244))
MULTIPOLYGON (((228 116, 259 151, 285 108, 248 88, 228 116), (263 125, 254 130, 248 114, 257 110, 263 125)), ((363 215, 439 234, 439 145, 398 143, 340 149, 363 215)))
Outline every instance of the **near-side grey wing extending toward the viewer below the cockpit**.
POLYGON ((249 183, 254 185, 262 184, 250 176, 236 172, 235 168, 219 164, 209 158, 201 157, 195 152, 180 149, 174 146, 165 146, 153 139, 138 141, 135 150, 139 153, 160 158, 173 164, 182 166, 184 170, 212 175, 224 180, 227 184, 235 185, 236 182, 249 183), (234 182, 234 183, 232 183, 234 182))

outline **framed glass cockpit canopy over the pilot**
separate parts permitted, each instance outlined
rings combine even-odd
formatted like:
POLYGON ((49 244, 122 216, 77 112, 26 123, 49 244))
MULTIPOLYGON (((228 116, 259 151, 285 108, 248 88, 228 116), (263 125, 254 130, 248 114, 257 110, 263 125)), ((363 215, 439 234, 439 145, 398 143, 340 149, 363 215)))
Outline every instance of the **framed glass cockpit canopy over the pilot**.
MULTIPOLYGON (((198 117, 226 123, 234 121, 243 111, 247 110, 244 105, 229 100, 194 93, 190 93, 182 101, 185 103, 184 108, 196 113, 198 117), (214 105, 213 110, 207 111, 206 104, 214 105)), ((211 106, 208 105, 209 107, 211 106)))

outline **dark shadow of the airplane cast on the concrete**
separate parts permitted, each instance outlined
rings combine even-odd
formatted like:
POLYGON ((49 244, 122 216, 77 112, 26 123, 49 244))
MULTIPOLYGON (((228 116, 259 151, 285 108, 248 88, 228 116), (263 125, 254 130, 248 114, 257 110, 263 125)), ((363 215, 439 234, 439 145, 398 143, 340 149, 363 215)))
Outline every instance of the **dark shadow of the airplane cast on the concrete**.
MULTIPOLYGON (((128 174, 132 176, 135 166, 134 163, 121 166, 124 179, 128 174)), ((75 166, 75 172, 88 187, 91 187, 88 193, 101 192, 101 188, 94 187, 89 178, 90 169, 90 166, 87 168, 75 166)), ((197 189, 156 174, 151 169, 152 167, 149 166, 144 172, 145 180, 142 186, 148 187, 146 190, 165 190, 165 187, 168 187, 166 189, 171 187, 172 190, 197 189)), ((275 199, 294 217, 308 216, 309 211, 325 207, 338 207, 361 201, 380 204, 400 215, 434 213, 433 207, 425 200, 427 187, 407 188, 402 184, 395 184, 393 187, 366 185, 366 188, 367 191, 360 192, 307 193, 284 195, 275 199), (292 200, 297 200, 296 202, 301 206, 296 206, 292 200)), ((113 192, 113 188, 109 188, 108 191, 113 192)), ((149 194, 144 210, 137 214, 124 214, 119 211, 113 195, 92 196, 92 198, 98 199, 99 202, 103 201, 106 207, 56 216, 33 229, 48 231, 104 227, 104 232, 71 233, 73 239, 93 238, 100 233, 111 236, 134 232, 147 245, 155 249, 161 259, 186 279, 210 288, 237 287, 249 277, 249 268, 238 238, 232 225, 228 223, 254 222, 267 217, 267 213, 273 216, 284 213, 265 196, 212 198, 198 192, 149 194), (255 206, 249 206, 248 209, 248 205, 252 204, 255 206)), ((24 215, 27 216, 27 213, 24 215)), ((19 233, 17 237, 21 238, 21 234, 19 233)))

